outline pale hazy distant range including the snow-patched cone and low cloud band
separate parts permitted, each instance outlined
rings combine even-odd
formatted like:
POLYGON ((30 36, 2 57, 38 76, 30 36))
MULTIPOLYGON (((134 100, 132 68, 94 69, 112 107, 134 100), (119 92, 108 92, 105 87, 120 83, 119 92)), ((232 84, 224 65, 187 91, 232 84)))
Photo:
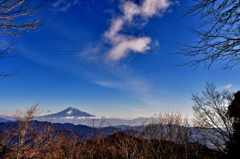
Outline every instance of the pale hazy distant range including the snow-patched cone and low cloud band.
MULTIPOLYGON (((11 116, 0 116, 0 118, 3 119, 2 122, 16 121, 11 116), (4 121, 4 119, 7 121, 4 121)), ((141 117, 136 119, 119 119, 110 117, 100 117, 80 111, 74 107, 69 107, 58 113, 35 117, 33 120, 47 121, 51 123, 72 123, 75 125, 82 124, 91 127, 108 127, 117 125, 136 126, 141 125, 142 123, 148 124, 149 121, 152 120, 152 118, 141 117)))

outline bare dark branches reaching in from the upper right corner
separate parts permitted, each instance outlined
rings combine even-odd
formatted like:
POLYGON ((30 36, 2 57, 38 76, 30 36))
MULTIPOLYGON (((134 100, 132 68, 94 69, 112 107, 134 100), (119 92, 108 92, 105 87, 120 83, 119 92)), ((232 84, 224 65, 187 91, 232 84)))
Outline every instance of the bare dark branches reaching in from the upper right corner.
POLYGON ((240 1, 239 0, 193 0, 193 5, 183 5, 182 17, 199 16, 200 28, 189 28, 197 35, 188 44, 175 43, 179 52, 193 57, 183 65, 197 68, 204 63, 210 68, 215 62, 230 69, 240 64, 240 1))

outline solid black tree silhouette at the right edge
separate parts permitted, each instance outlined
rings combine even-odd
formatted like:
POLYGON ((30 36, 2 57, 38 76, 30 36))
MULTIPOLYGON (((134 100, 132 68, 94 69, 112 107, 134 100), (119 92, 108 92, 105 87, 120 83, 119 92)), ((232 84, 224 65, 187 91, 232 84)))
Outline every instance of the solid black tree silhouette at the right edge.
POLYGON ((228 107, 228 115, 233 118, 233 134, 227 142, 227 157, 235 158, 240 154, 240 91, 234 94, 234 100, 228 107))

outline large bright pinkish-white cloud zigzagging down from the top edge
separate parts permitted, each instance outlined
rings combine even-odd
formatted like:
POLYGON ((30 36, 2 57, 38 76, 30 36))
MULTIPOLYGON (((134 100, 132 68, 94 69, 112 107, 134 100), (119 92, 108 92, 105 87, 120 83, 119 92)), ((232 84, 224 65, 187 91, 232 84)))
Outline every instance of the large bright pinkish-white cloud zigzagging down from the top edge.
POLYGON ((144 0, 140 5, 131 1, 122 1, 119 8, 123 15, 114 17, 108 31, 104 33, 106 40, 112 45, 107 55, 107 61, 118 61, 134 53, 146 53, 151 43, 150 37, 134 37, 121 34, 124 25, 134 24, 134 18, 140 16, 142 24, 146 24, 148 18, 162 16, 171 5, 169 0, 144 0))

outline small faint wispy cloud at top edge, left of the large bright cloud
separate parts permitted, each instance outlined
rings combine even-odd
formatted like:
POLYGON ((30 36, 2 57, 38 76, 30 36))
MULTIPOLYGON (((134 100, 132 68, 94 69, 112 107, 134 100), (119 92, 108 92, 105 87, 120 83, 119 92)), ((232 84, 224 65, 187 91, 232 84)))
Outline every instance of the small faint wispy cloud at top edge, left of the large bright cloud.
POLYGON ((52 7, 54 8, 54 11, 61 11, 66 12, 69 7, 79 3, 78 0, 75 1, 68 1, 68 0, 57 0, 52 4, 52 7))

